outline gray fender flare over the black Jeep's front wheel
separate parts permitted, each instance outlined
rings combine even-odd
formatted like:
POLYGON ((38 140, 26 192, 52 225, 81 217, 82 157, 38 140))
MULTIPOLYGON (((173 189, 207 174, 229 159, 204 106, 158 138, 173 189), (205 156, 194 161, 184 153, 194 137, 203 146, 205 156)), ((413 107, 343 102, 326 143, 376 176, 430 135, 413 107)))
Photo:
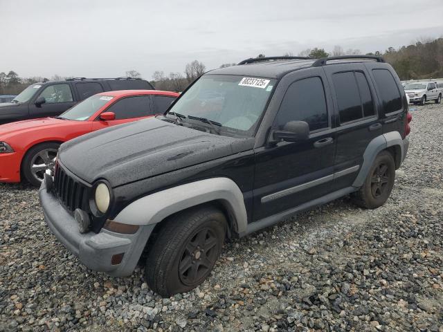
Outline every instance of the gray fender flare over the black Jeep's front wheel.
POLYGON ((248 218, 242 191, 230 178, 208 178, 162 190, 127 205, 115 218, 119 223, 151 225, 166 217, 209 201, 219 201, 228 211, 235 232, 246 231, 248 218))

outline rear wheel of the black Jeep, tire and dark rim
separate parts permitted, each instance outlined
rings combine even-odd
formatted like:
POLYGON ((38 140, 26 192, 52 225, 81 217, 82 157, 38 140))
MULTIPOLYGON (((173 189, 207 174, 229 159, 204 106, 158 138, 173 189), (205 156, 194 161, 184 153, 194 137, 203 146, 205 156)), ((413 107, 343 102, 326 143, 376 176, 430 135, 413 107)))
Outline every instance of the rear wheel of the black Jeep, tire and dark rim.
POLYGON ((365 209, 379 208, 388 201, 394 181, 394 158, 388 151, 381 151, 375 158, 365 182, 354 193, 352 197, 354 203, 365 209))

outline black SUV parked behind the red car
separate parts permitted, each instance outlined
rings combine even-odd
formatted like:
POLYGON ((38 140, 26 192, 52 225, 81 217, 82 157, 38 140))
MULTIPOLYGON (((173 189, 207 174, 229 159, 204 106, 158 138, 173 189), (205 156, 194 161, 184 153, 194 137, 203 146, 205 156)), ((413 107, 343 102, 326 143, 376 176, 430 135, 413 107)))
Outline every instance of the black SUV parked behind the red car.
POLYGON ((71 78, 66 81, 35 83, 11 102, 0 103, 0 124, 60 116, 78 102, 103 91, 154 90, 145 80, 131 77, 71 78))

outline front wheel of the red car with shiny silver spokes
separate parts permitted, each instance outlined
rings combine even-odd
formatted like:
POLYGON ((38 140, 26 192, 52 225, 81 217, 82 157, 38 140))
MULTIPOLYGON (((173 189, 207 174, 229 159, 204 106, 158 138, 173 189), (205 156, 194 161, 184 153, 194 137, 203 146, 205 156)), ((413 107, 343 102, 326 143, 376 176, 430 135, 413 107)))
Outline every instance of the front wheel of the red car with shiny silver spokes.
POLYGON ((59 143, 46 142, 31 147, 21 163, 21 173, 35 187, 42 184, 46 169, 54 169, 59 143))

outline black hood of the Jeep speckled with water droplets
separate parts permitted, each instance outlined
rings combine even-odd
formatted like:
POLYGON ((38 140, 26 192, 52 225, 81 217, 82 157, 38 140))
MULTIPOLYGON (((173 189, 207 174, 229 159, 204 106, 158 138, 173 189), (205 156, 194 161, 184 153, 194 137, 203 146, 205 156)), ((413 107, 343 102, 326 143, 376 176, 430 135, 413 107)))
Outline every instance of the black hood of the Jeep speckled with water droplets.
POLYGON ((112 187, 250 149, 251 138, 232 138, 151 118, 70 140, 60 162, 88 183, 112 187))

